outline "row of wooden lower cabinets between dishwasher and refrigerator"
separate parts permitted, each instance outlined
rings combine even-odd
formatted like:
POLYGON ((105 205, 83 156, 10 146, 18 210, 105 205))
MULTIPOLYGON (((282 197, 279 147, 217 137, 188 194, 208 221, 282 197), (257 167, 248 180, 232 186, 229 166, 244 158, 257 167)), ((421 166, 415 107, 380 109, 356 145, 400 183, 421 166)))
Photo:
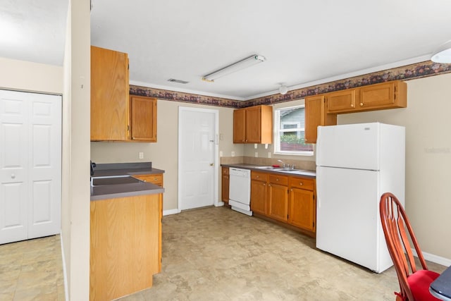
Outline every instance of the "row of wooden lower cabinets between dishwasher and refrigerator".
POLYGON ((280 173, 251 172, 251 209, 254 214, 316 233, 315 180, 280 173))

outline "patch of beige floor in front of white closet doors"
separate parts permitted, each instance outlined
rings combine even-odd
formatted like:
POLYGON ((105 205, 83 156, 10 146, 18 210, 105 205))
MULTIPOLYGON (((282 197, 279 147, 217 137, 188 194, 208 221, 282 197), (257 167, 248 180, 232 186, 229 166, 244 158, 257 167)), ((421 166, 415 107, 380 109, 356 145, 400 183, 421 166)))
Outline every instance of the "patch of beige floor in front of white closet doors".
POLYGON ((0 300, 65 300, 59 235, 0 245, 0 300))

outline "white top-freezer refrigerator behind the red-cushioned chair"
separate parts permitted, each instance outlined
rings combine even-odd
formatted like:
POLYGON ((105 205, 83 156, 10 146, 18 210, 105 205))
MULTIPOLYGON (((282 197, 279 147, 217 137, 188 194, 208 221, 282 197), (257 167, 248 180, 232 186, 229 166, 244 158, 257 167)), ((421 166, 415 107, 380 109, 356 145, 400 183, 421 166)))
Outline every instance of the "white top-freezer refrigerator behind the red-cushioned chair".
POLYGON ((404 206, 405 129, 383 123, 319 126, 316 247, 376 273, 393 265, 379 200, 404 206))

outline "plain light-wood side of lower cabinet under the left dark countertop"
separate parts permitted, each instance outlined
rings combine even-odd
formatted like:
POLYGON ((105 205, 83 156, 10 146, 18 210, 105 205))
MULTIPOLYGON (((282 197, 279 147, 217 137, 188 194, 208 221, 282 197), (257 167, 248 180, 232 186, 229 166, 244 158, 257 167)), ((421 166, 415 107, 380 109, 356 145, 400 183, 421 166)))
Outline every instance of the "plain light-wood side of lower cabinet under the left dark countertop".
POLYGON ((90 203, 89 299, 152 287, 161 254, 161 194, 90 203))

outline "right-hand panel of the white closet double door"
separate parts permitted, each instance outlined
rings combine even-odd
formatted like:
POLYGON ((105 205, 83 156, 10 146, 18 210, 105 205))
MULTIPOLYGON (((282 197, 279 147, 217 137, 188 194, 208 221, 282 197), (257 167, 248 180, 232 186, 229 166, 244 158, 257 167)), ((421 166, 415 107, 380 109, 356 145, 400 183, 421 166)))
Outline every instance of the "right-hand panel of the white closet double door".
POLYGON ((61 229, 61 97, 31 98, 28 238, 39 238, 61 229))

